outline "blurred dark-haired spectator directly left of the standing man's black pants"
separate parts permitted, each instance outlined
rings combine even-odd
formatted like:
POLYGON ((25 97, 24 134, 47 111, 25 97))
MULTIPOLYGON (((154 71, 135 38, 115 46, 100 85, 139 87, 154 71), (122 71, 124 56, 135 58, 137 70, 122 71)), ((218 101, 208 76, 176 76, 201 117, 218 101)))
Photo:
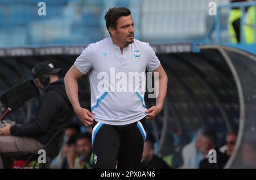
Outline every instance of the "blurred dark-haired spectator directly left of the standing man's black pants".
POLYGON ((69 149, 67 161, 69 168, 93 168, 92 135, 89 132, 81 133, 76 138, 76 147, 69 149))

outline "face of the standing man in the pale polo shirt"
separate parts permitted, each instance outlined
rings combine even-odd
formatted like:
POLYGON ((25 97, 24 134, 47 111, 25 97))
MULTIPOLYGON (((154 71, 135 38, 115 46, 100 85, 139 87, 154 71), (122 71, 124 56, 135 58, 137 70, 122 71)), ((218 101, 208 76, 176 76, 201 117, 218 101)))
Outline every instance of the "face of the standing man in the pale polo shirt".
POLYGON ((120 44, 131 44, 134 41, 133 18, 129 16, 121 16, 117 20, 117 29, 112 29, 112 37, 120 44))

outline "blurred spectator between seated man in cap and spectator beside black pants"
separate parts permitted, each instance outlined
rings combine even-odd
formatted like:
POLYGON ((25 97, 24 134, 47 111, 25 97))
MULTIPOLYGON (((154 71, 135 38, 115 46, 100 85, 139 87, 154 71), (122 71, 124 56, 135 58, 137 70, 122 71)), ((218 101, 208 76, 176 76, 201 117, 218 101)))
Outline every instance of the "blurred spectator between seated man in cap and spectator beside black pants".
POLYGON ((69 125, 65 131, 65 136, 64 136, 64 145, 63 148, 61 148, 61 151, 59 155, 56 157, 55 160, 51 163, 51 168, 61 168, 63 166, 63 163, 65 161, 65 155, 67 154, 67 149, 68 145, 67 142, 69 141, 71 136, 77 135, 80 133, 80 125, 72 123, 69 125))

